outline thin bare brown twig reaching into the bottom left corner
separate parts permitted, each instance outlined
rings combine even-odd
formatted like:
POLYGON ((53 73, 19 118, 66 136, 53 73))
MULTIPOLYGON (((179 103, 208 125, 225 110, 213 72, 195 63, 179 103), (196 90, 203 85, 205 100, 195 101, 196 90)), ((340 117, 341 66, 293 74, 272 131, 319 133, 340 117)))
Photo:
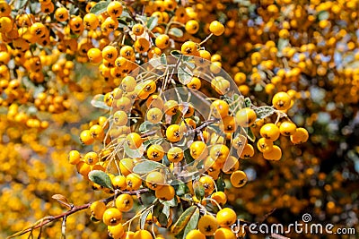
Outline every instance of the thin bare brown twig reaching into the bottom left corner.
MULTIPOLYGON (((115 192, 109 198, 103 199, 101 201, 103 201, 105 204, 108 204, 109 201, 113 201, 116 197, 118 197, 119 194, 127 193, 129 195, 139 195, 139 194, 142 194, 142 193, 145 193, 145 192, 149 192, 149 189, 144 188, 144 189, 139 189, 139 190, 136 190, 136 191, 128 191, 128 192, 127 191, 119 191, 119 192, 115 192)), ((86 204, 83 204, 83 205, 80 205, 80 206, 71 205, 71 209, 67 210, 66 212, 58 214, 57 216, 47 216, 45 218, 41 218, 33 226, 30 226, 30 227, 22 230, 21 232, 18 232, 18 233, 15 233, 13 235, 10 235, 10 236, 7 237, 7 239, 30 233, 34 229, 41 228, 42 226, 46 226, 50 222, 56 221, 58 219, 67 218, 68 216, 74 214, 75 212, 81 211, 83 209, 88 209, 91 206, 91 204, 92 204, 92 202, 89 202, 89 203, 86 203, 86 204)))

